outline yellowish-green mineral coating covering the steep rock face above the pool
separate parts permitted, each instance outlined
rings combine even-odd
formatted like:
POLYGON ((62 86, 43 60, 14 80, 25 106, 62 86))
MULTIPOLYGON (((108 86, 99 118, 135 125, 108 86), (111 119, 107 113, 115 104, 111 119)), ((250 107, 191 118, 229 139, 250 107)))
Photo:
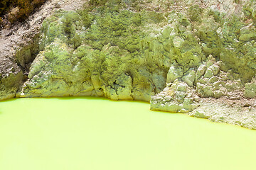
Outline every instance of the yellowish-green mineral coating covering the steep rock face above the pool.
MULTIPOLYGON (((166 1, 159 11, 139 1, 114 0, 92 0, 84 10, 58 11, 43 21, 40 52, 17 96, 149 101, 169 83, 171 66, 180 68, 174 78, 181 79, 210 57, 244 87, 256 73, 256 30, 255 2, 243 4, 237 9, 242 15, 188 2, 186 10, 177 11, 166 1)), ((196 86, 195 75, 186 79, 196 86)), ((225 94, 198 89, 203 97, 225 94)))

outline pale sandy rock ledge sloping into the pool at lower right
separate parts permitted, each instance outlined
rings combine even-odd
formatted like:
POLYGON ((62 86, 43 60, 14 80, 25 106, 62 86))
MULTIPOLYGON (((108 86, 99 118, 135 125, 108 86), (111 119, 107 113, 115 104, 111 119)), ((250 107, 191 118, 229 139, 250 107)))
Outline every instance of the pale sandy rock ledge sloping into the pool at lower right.
POLYGON ((197 118, 208 118, 213 122, 230 123, 256 130, 256 102, 244 100, 234 103, 225 100, 201 101, 200 106, 188 115, 197 118))

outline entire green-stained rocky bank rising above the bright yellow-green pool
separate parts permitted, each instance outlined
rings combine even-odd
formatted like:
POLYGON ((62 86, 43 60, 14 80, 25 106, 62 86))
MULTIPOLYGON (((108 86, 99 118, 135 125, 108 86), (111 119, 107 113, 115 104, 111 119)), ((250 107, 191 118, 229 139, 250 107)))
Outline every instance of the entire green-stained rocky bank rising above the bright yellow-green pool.
POLYGON ((1 30, 1 99, 150 101, 256 129, 255 27, 255 1, 47 1, 1 30))

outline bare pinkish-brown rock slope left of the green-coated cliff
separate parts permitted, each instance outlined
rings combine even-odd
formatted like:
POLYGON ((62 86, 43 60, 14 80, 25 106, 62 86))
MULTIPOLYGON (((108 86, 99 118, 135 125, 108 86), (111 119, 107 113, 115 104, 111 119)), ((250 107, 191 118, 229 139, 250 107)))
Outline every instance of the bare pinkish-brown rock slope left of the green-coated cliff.
POLYGON ((0 100, 14 98, 27 79, 31 62, 38 54, 41 23, 58 9, 81 8, 82 0, 47 1, 24 23, 0 31, 0 100))

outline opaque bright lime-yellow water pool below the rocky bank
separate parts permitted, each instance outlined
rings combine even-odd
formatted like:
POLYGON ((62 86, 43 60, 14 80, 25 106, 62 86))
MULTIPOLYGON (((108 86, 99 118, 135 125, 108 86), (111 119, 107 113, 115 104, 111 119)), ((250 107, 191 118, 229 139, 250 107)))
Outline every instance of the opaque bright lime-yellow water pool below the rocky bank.
POLYGON ((1 170, 255 169, 256 131, 148 103, 100 98, 0 102, 1 170))

